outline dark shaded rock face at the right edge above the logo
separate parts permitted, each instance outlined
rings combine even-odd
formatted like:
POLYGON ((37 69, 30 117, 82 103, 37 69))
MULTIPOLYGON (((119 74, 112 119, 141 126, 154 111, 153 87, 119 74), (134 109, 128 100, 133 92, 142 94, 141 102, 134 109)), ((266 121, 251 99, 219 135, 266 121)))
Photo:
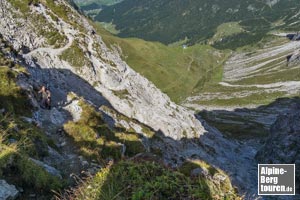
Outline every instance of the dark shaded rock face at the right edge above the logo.
MULTIPOLYGON (((296 164, 296 183, 300 181, 300 107, 293 113, 280 115, 271 128, 271 135, 257 152, 260 163, 296 164)), ((299 191, 299 185, 297 190, 299 191)))

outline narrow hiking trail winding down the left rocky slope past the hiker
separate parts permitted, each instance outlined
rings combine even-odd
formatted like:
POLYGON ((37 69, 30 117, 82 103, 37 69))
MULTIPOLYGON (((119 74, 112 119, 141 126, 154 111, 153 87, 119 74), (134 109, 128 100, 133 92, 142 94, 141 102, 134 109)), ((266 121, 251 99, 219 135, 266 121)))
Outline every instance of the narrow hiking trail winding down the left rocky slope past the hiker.
MULTIPOLYGON (((67 43, 60 48, 42 47, 23 54, 22 56, 27 64, 31 63, 32 58, 36 54, 50 57, 61 55, 72 46, 76 36, 81 34, 81 32, 72 28, 71 25, 56 16, 51 10, 46 9, 42 4, 33 8, 35 12, 43 15, 58 32, 61 32, 67 37, 67 43), (56 16, 59 22, 53 21, 50 14, 56 16)), ((92 50, 93 40, 89 38, 89 42, 89 50, 92 50)), ((19 60, 17 62, 22 63, 23 61, 19 60)), ((33 120, 44 130, 46 136, 53 140, 56 147, 48 147, 49 155, 46 156, 42 162, 56 168, 61 173, 63 179, 68 180, 71 185, 73 185, 78 181, 78 177, 95 174, 101 167, 97 161, 87 161, 84 159, 78 152, 78 147, 73 139, 67 136, 63 131, 63 125, 65 123, 80 118, 81 107, 78 105, 78 101, 68 99, 67 94, 77 88, 77 85, 74 83, 77 83, 78 87, 80 87, 80 83, 83 81, 80 80, 79 77, 71 76, 63 83, 64 75, 59 72, 51 71, 51 67, 55 68, 56 66, 47 66, 47 68, 48 67, 50 67, 48 70, 30 67, 28 70, 31 76, 21 78, 19 85, 24 89, 31 90, 33 87, 40 87, 42 83, 45 84, 45 81, 49 84, 53 100, 51 110, 40 108, 38 98, 35 97, 36 99, 33 99, 33 102, 36 104, 35 107, 38 108, 34 112, 33 120), (57 87, 55 85, 60 86, 57 87)), ((89 91, 81 91, 78 89, 78 92, 85 94, 89 91)), ((99 103, 103 102, 100 97, 91 97, 91 99, 93 98, 98 99, 99 103)))

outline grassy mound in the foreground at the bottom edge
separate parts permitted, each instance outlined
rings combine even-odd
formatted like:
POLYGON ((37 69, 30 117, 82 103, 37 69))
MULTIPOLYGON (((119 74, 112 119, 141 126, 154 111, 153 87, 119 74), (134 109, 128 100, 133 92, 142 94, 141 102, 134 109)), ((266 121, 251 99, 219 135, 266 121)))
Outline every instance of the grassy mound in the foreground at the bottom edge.
POLYGON ((188 175, 146 160, 110 163, 74 192, 77 200, 111 199, 241 199, 228 177, 209 165, 190 177, 198 162, 186 164, 188 175), (187 166, 189 165, 189 166, 187 166), (206 168, 205 168, 206 170, 206 168), (217 177, 224 177, 223 181, 217 177))

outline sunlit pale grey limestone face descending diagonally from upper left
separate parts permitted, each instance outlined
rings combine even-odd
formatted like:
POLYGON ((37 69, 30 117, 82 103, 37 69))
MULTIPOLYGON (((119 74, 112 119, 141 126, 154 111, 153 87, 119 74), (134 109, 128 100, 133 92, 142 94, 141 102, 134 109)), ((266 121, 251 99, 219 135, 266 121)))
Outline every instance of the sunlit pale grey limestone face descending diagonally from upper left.
POLYGON ((47 82, 51 84, 60 81, 63 84, 64 79, 53 80, 54 71, 68 70, 93 85, 118 112, 156 131, 161 131, 168 137, 175 140, 182 137, 199 138, 205 132, 192 112, 171 102, 167 95, 133 71, 120 58, 116 49, 108 48, 100 36, 92 34, 93 27, 70 5, 64 1, 56 1, 56 3, 72 10, 73 13, 69 15, 76 18, 78 24, 84 27, 84 30, 76 29, 61 18, 54 21, 51 15, 55 13, 42 4, 31 6, 32 15, 43 17, 46 20, 45 25, 67 38, 66 44, 59 48, 47 45, 45 42, 47 38, 39 35, 38 31, 32 28, 32 21, 29 18, 14 17, 20 15, 19 11, 14 10, 7 1, 3 3, 5 9, 2 13, 4 17, 0 22, 0 33, 17 51, 22 52, 26 49, 21 55, 30 66, 29 70, 32 74, 37 73, 37 66, 43 69, 40 75, 35 77, 35 81, 45 82, 42 80, 43 77, 51 76, 51 80, 48 78, 47 82), (77 47, 85 52, 84 56, 90 62, 80 68, 72 66, 72 63, 61 57, 63 52, 75 45, 75 41, 77 44, 80 43, 77 47))

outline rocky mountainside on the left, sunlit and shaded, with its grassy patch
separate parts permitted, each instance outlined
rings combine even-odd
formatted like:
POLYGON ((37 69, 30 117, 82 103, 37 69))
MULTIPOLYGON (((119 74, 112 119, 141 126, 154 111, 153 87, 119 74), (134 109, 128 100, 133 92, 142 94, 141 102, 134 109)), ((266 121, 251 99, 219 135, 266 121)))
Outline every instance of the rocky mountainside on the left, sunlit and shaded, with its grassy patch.
MULTIPOLYGON (((244 173, 245 169, 236 172, 236 165, 252 162, 249 154, 253 154, 253 150, 241 150, 246 154, 238 159, 236 149, 248 147, 228 141, 216 129, 197 119, 193 112, 172 103, 122 61, 118 49, 107 48, 89 22, 68 3, 30 4, 11 0, 1 1, 1 6, 1 37, 6 46, 11 47, 3 50, 4 55, 28 71, 18 78, 18 84, 27 91, 34 107, 33 116, 26 120, 41 127, 58 148, 46 150, 48 156, 34 158, 32 161, 37 165, 52 171, 55 169, 52 166, 56 166, 65 177, 72 172, 77 174, 76 170, 82 169, 79 166, 95 170, 96 160, 87 162, 85 159, 97 158, 99 152, 95 149, 98 148, 102 149, 100 156, 104 158, 104 152, 118 158, 144 150, 156 151, 170 166, 180 166, 188 159, 205 160, 229 173, 242 192, 246 192, 244 183, 255 185, 251 174, 244 173), (34 95, 42 84, 52 91, 50 111, 39 108, 34 95), (96 110, 86 112, 90 108, 76 96, 96 110), (102 113, 103 119, 94 112, 102 113), (90 120, 84 121, 83 116, 90 120), (110 128, 100 126, 104 122, 111 129, 119 127, 117 130, 126 131, 121 135, 111 132, 110 128), (67 135, 74 139, 68 139, 67 135), (131 142, 118 139, 121 136, 130 136, 128 142, 131 142), (111 141, 103 146, 104 138, 111 141), (137 150, 140 142, 144 148, 137 150), (105 147, 108 144, 112 146, 105 147)), ((222 176, 219 180, 225 179, 222 176)))

